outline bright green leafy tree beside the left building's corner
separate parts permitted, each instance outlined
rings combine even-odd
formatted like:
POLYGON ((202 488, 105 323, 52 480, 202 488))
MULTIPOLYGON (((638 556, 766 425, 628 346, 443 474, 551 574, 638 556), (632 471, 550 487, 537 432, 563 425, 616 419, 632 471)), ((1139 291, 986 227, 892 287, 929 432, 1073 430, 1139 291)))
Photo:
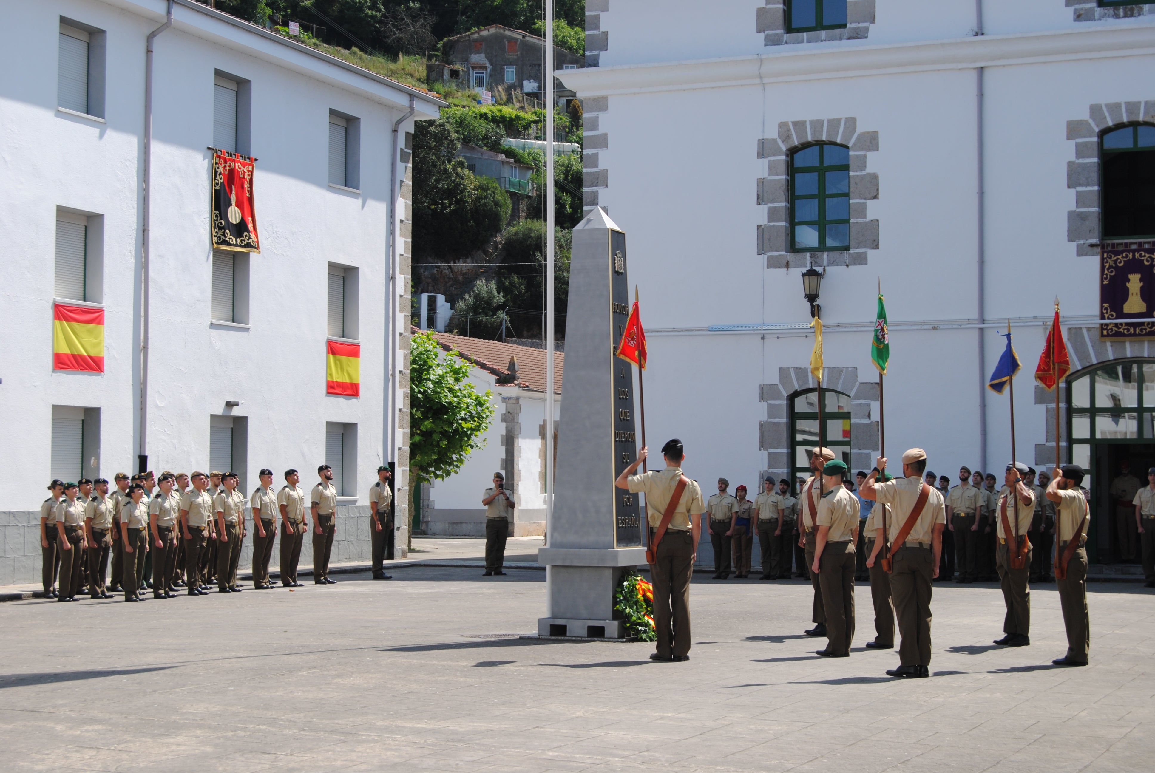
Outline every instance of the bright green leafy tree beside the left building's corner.
MULTIPOLYGON (((444 481, 485 445, 493 394, 469 382, 469 363, 442 352, 432 333, 417 333, 409 350, 410 497, 422 483, 444 481)), ((410 511, 412 501, 410 501, 410 511)))

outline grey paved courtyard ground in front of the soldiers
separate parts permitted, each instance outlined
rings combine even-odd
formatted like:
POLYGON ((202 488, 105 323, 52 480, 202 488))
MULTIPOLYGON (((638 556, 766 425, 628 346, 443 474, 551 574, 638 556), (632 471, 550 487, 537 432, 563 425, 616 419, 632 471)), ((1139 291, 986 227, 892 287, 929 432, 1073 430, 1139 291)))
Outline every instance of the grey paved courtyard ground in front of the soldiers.
POLYGON ((545 574, 411 566, 394 580, 121 601, 0 604, 0 770, 1148 771, 1149 590, 1093 584, 1091 666, 1065 649, 1053 586, 1033 644, 1000 636, 993 586, 934 593, 933 678, 869 652, 812 655, 802 581, 695 579, 687 663, 647 644, 516 638, 545 574))

